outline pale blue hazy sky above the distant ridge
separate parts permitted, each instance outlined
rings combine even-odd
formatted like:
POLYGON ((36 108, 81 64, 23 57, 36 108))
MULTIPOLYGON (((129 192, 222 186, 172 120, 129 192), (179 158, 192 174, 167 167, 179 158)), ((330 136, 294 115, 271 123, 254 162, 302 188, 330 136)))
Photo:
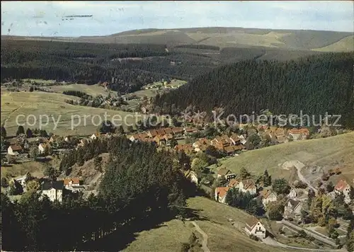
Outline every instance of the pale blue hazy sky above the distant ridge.
POLYGON ((146 28, 353 33, 352 1, 1 1, 1 35, 78 37, 146 28), (91 17, 67 18, 71 15, 91 17))

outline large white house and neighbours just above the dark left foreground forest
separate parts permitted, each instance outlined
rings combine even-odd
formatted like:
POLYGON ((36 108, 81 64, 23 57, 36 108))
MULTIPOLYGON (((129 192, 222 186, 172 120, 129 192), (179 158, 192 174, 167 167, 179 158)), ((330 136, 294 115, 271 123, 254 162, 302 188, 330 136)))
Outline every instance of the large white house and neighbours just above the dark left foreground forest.
MULTIPOLYGON (((21 185, 25 191, 26 182, 29 177, 30 173, 26 173, 24 176, 14 179, 14 182, 21 185)), ((64 178, 64 180, 50 181, 43 177, 37 178, 36 180, 40 183, 40 190, 38 190, 37 193, 40 193, 41 197, 47 195, 51 201, 58 200, 59 202, 62 202, 65 195, 85 190, 83 181, 80 178, 64 178)))

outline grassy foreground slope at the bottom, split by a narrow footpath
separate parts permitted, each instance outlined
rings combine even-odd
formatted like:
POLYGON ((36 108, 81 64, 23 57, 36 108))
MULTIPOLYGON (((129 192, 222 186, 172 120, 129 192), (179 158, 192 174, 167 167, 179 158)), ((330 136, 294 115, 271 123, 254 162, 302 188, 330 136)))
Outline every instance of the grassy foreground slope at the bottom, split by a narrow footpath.
MULTIPOLYGON (((249 217, 246 212, 205 197, 188 199, 188 207, 198 212, 200 220, 195 222, 207 234, 210 251, 284 251, 284 248, 253 241, 243 233, 244 223, 249 217), (228 219, 235 222, 235 227, 228 219)), ((125 251, 179 251, 181 243, 188 242, 193 230, 190 222, 183 224, 173 219, 149 231, 137 233, 136 240, 125 251)))

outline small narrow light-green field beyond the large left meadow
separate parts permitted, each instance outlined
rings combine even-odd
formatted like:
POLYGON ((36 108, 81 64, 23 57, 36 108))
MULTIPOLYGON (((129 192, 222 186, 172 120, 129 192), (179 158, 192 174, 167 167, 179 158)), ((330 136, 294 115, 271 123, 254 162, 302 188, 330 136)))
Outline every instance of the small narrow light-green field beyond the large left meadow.
POLYGON ((93 97, 98 95, 108 96, 108 91, 105 91, 105 88, 103 88, 103 86, 98 86, 98 84, 96 85, 70 84, 70 85, 47 86, 47 88, 52 92, 62 93, 63 91, 81 91, 93 97))

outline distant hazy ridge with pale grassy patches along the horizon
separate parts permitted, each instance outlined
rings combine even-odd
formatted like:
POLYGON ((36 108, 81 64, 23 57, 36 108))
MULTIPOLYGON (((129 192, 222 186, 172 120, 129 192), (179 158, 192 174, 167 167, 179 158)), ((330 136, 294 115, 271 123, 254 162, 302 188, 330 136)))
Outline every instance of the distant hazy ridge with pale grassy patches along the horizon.
MULTIPOLYGON (((169 46, 203 44, 218 47, 263 46, 295 50, 311 50, 327 47, 353 33, 324 30, 270 30, 257 28, 176 28, 128 30, 108 36, 79 38, 40 38, 41 40, 62 40, 96 43, 152 43, 169 46)), ((18 39, 16 36, 1 38, 18 39)), ((22 37, 23 39, 25 37, 22 37)), ((30 38, 25 38, 30 39, 30 38)), ((337 47, 329 50, 337 51, 337 47)))

